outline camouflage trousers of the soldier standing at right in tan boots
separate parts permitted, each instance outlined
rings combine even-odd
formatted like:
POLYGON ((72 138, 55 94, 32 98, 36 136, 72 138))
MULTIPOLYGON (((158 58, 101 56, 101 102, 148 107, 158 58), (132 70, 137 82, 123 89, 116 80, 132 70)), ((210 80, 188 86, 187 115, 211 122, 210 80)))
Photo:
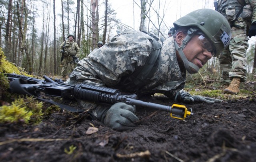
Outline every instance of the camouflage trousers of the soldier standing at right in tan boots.
MULTIPOLYGON (((246 79, 246 50, 248 49, 248 38, 246 37, 247 21, 238 18, 232 30, 232 38, 228 49, 224 49, 219 55, 220 70, 222 71, 221 80, 232 80, 239 77, 241 82, 246 79)), ((229 81, 230 81, 229 80, 229 81)))

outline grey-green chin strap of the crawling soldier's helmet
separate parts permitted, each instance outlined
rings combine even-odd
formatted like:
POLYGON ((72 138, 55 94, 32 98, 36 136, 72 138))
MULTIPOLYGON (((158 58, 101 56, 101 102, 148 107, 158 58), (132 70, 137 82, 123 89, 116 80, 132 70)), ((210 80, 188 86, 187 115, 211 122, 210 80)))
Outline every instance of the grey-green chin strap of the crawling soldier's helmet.
POLYGON ((180 58, 183 61, 183 64, 186 68, 186 70, 188 71, 189 74, 195 74, 199 71, 198 66, 196 66, 195 64, 193 64, 192 62, 188 61, 188 59, 186 58, 183 49, 185 48, 185 46, 187 45, 187 43, 190 41, 190 39, 193 37, 194 33, 197 31, 198 29, 194 29, 194 28, 190 28, 188 29, 188 35, 185 37, 185 39, 182 41, 182 45, 179 47, 178 43, 176 41, 174 41, 174 45, 175 45, 175 49, 179 52, 180 58), (195 71, 193 71, 191 68, 193 68, 195 71))

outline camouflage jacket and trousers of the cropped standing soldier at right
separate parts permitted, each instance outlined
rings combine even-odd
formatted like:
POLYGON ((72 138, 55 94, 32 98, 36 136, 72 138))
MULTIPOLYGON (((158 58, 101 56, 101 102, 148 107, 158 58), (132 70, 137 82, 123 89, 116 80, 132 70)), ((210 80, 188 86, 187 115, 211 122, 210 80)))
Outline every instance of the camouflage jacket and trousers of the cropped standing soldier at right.
POLYGON ((230 83, 230 80, 234 77, 240 78, 241 82, 246 80, 246 50, 248 49, 246 31, 248 25, 256 21, 256 1, 245 0, 245 2, 242 13, 236 19, 236 15, 243 7, 238 0, 218 1, 218 11, 230 22, 232 30, 232 38, 228 49, 224 49, 218 57, 222 70, 221 80, 224 83, 230 83), (251 14, 252 9, 253 13, 251 14))

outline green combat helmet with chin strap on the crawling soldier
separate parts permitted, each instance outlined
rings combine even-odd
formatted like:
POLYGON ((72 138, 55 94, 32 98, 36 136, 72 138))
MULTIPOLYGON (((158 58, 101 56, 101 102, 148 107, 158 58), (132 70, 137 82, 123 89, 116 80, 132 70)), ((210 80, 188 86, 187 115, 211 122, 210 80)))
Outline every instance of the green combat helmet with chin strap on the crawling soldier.
POLYGON ((195 69, 197 72, 199 68, 188 61, 182 50, 194 34, 201 33, 210 40, 215 47, 215 51, 212 53, 213 57, 218 56, 224 48, 228 47, 231 39, 230 24, 222 14, 212 9, 195 10, 173 24, 176 30, 179 27, 188 28, 188 35, 183 40, 182 45, 179 47, 175 42, 175 49, 179 51, 184 66, 190 74, 194 73, 190 68, 195 69))

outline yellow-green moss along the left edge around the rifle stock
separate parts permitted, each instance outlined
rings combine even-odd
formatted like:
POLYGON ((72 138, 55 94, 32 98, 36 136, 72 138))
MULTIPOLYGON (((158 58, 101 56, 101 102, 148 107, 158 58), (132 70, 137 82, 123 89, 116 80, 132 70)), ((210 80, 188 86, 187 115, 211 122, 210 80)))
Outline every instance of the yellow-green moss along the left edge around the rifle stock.
POLYGON ((30 76, 22 68, 8 62, 0 48, 0 100, 12 102, 11 105, 3 105, 0 107, 0 123, 26 123, 38 124, 42 121, 44 115, 50 115, 54 110, 59 111, 58 106, 52 105, 43 108, 43 102, 35 100, 33 97, 25 96, 21 98, 18 94, 10 94, 8 79, 4 76, 5 73, 16 73, 20 75, 30 76), (1 93, 0 93, 1 95, 1 93), (13 98, 17 98, 13 101, 13 98))

